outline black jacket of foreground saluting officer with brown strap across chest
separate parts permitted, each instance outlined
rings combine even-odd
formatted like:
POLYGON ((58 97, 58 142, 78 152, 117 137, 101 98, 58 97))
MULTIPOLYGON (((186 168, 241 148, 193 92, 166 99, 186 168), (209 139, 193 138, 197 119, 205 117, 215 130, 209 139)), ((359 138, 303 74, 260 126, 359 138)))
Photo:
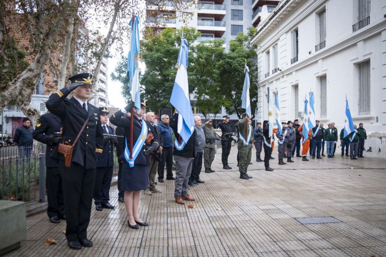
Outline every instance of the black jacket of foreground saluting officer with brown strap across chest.
MULTIPOLYGON (((86 169, 95 169, 97 168, 97 154, 102 153, 103 145, 103 131, 99 120, 99 109, 93 104, 87 103, 88 111, 86 112, 74 97, 66 99, 69 94, 70 91, 67 88, 62 88, 49 97, 46 106, 50 112, 59 116, 62 120, 63 139, 64 142, 69 142, 70 144, 75 141, 86 119, 89 118, 82 135, 74 147, 71 161, 85 166, 86 169)), ((51 156, 64 160, 63 154, 58 153, 57 150, 51 156)))

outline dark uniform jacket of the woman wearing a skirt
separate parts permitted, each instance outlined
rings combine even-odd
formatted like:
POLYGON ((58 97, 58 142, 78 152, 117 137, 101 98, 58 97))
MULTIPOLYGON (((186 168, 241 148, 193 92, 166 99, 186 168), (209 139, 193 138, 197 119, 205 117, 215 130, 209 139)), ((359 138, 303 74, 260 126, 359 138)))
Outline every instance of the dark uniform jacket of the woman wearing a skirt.
MULTIPOLYGON (((110 122, 111 122, 111 124, 114 124, 117 127, 123 127, 123 129, 125 130, 125 137, 126 137, 127 147, 130 148, 130 119, 131 119, 131 117, 124 117, 124 118, 122 118, 123 115, 126 115, 126 114, 124 114, 121 110, 115 112, 110 117, 110 122)), ((150 165, 150 155, 145 155, 144 151, 149 146, 154 147, 155 150, 157 150, 158 146, 159 146, 159 138, 158 138, 158 135, 155 132, 153 126, 151 126, 148 121, 140 120, 138 117, 134 116, 134 122, 133 122, 133 147, 136 144, 138 138, 141 136, 142 122, 146 122, 147 133, 151 132, 153 134, 154 138, 150 142, 150 145, 147 145, 146 143, 144 143, 140 153, 138 154, 137 158, 134 161, 134 165, 135 164, 138 164, 138 165, 150 165)), ((123 159, 124 161, 126 161, 125 158, 120 157, 120 159, 123 159)))

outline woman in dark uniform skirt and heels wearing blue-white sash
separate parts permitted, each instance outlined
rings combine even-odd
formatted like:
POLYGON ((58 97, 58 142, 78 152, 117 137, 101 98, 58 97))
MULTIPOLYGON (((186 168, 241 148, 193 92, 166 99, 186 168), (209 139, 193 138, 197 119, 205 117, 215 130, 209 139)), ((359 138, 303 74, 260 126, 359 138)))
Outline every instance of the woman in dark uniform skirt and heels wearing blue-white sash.
MULTIPOLYGON (((143 101, 141 101, 143 102, 143 101)), ((110 117, 110 122, 125 130, 126 147, 123 153, 121 188, 125 191, 125 206, 128 217, 128 225, 138 229, 139 226, 147 226, 139 215, 141 191, 147 188, 150 154, 159 147, 159 139, 153 127, 143 120, 145 116, 145 103, 141 103, 141 111, 137 112, 134 102, 129 103, 124 109, 119 110, 110 117), (133 109, 133 117, 126 117, 126 112, 133 109), (122 116, 125 116, 122 118, 122 116), (130 119, 133 123, 133 154, 130 154, 130 119)))

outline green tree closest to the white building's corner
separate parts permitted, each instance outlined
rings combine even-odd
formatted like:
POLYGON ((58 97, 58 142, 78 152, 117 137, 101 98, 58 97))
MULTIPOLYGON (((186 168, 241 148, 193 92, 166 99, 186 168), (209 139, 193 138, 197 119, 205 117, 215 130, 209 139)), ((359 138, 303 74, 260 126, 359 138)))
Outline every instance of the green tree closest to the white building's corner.
MULTIPOLYGON (((239 118, 244 109, 241 108, 241 93, 244 85, 245 62, 249 67, 250 84, 257 83, 257 65, 253 64, 257 54, 255 46, 249 44, 249 40, 256 32, 255 28, 249 28, 248 34, 239 33, 234 41, 230 42, 229 52, 219 62, 220 92, 223 94, 222 105, 229 114, 236 112, 239 118)), ((251 110, 256 108, 257 87, 249 89, 251 110)), ((252 115, 252 118, 254 114, 252 115)))

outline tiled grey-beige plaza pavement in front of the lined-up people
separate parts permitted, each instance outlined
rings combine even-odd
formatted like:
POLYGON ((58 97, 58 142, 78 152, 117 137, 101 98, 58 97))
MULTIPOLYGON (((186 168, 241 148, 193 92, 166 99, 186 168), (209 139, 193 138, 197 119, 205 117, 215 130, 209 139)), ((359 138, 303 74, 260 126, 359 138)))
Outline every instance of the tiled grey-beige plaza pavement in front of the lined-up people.
MULTIPOLYGON (((205 184, 192 187, 195 208, 174 202, 174 181, 158 183, 162 194, 142 195, 140 214, 148 227, 131 229, 126 210, 93 211, 88 237, 94 247, 70 250, 65 222, 49 223, 47 214, 27 218, 27 238, 6 256, 386 256, 385 159, 336 156, 278 165, 263 162, 248 168, 250 180, 239 179, 237 148, 231 171, 223 170, 221 149, 205 184), (302 224, 296 218, 334 217, 339 222, 302 224), (46 246, 53 238, 56 245, 46 246)), ((338 153, 337 155, 340 155, 338 153)), ((320 222, 320 221, 316 221, 320 222)))

